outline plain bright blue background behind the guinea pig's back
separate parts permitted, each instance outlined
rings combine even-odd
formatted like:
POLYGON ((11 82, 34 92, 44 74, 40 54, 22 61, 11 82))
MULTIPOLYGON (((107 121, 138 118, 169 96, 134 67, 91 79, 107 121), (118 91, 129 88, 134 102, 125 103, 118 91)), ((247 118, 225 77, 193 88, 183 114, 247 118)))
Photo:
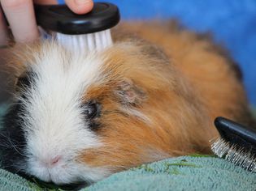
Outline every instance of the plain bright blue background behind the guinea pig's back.
POLYGON ((215 41, 225 45, 241 66, 249 100, 256 106, 255 0, 106 0, 106 2, 114 2, 119 6, 122 19, 175 17, 194 31, 213 32, 215 41))

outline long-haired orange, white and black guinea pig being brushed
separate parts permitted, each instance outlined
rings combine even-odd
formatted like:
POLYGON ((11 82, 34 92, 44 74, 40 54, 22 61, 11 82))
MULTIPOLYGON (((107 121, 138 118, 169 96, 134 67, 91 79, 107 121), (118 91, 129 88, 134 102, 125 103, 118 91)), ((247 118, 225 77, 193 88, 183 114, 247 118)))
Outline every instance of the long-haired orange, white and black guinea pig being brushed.
POLYGON ((42 40, 10 53, 17 79, 0 136, 3 168, 57 185, 93 183, 209 154, 215 117, 252 121, 236 64, 207 36, 123 23, 113 37, 101 52, 42 40))

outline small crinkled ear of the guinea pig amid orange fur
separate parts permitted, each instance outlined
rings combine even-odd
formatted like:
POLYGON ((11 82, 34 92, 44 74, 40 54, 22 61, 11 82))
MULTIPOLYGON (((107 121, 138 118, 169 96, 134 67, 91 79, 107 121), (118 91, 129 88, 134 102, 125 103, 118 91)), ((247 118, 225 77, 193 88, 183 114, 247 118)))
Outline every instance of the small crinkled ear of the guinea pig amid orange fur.
POLYGON ((147 98, 145 91, 130 79, 120 82, 115 94, 122 104, 139 105, 147 98))

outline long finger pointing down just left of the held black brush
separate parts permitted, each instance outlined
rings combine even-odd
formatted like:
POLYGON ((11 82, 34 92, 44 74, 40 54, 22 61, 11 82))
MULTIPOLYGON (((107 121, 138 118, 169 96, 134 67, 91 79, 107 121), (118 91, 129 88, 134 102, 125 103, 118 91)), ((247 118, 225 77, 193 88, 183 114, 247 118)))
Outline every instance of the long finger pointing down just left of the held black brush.
POLYGON ((0 0, 17 42, 30 42, 39 36, 32 0, 0 0))

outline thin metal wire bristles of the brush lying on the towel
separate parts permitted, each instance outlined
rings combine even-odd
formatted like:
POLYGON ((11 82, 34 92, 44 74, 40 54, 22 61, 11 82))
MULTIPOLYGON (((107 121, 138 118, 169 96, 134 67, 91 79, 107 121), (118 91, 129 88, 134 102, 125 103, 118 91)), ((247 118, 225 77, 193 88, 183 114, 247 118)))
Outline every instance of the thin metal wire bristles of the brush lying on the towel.
POLYGON ((219 138, 211 145, 211 150, 220 158, 225 156, 229 162, 251 172, 256 172, 256 155, 251 154, 250 151, 245 151, 241 146, 236 146, 226 142, 223 138, 219 138))

